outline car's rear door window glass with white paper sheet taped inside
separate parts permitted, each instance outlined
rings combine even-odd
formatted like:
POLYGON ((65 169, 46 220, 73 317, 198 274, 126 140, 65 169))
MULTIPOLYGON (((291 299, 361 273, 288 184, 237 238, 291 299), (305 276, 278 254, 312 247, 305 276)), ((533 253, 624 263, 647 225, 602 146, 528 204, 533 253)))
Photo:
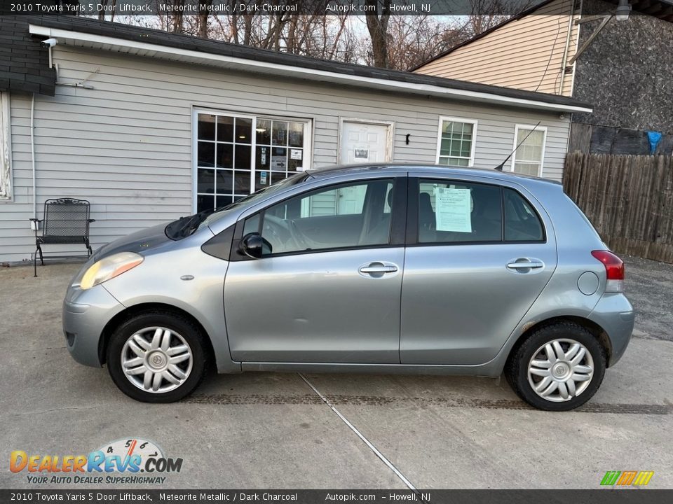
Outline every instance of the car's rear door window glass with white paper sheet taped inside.
POLYGON ((421 180, 419 243, 502 241, 502 212, 498 186, 421 180))

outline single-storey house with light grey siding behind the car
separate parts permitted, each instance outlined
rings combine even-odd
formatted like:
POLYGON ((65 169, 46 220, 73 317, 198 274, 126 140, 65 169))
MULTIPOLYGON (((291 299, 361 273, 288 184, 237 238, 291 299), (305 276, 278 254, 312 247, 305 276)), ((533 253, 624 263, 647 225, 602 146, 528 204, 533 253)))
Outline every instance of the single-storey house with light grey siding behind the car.
POLYGON ((27 29, 57 38, 57 83, 53 96, 1 95, 3 162, 11 163, 1 186, 11 188, 0 196, 1 262, 32 258, 29 218, 42 218, 48 198, 90 201, 97 248, 301 169, 367 161, 492 169, 517 132, 538 123, 541 151, 529 151, 541 157, 526 167, 560 180, 570 115, 590 110, 565 97, 403 72, 379 78, 376 69, 289 55, 263 62, 217 53, 233 51, 229 44, 189 50, 190 37, 124 27, 149 34, 132 41, 102 35, 93 20, 34 18, 27 29))

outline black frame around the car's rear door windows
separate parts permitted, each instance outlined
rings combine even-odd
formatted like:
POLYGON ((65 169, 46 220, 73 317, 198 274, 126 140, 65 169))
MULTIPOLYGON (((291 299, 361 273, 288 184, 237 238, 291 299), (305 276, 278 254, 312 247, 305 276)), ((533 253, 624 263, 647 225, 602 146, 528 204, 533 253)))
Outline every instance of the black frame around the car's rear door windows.
POLYGON ((548 233, 545 219, 543 219, 540 211, 531 202, 531 198, 526 197, 520 190, 515 187, 503 185, 499 183, 489 183, 483 181, 475 181, 471 179, 450 178, 444 179, 441 176, 433 176, 432 174, 423 174, 416 176, 409 176, 407 182, 407 230, 406 230, 406 246, 465 246, 465 245, 517 245, 517 244, 547 244, 548 233), (501 204, 501 239, 500 240, 480 240, 480 241, 431 241, 421 242, 420 237, 420 183, 423 181, 442 181, 442 183, 456 183, 456 184, 477 184, 481 186, 491 186, 500 189, 500 204, 501 204), (538 221, 542 225, 543 239, 541 240, 505 240, 505 225, 507 219, 505 218, 505 189, 513 190, 517 195, 522 197, 526 203, 529 204, 533 212, 535 212, 538 221))

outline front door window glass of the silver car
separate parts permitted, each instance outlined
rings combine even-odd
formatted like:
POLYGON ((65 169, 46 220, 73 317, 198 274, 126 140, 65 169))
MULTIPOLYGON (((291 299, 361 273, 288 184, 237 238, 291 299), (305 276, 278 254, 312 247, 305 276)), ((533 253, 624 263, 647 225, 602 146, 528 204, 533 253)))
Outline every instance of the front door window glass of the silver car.
POLYGON ((243 235, 259 232, 265 255, 386 245, 392 195, 388 179, 323 188, 247 218, 243 235))

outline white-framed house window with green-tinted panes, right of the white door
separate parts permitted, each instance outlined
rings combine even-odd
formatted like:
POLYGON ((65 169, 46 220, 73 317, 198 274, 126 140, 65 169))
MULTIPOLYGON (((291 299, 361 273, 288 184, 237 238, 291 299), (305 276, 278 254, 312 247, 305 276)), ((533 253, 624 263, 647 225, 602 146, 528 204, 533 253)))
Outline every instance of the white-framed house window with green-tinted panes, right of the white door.
POLYGON ((440 118, 437 164, 470 167, 474 164, 477 121, 440 118))

